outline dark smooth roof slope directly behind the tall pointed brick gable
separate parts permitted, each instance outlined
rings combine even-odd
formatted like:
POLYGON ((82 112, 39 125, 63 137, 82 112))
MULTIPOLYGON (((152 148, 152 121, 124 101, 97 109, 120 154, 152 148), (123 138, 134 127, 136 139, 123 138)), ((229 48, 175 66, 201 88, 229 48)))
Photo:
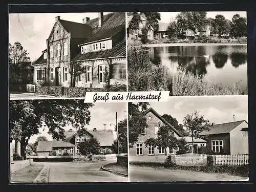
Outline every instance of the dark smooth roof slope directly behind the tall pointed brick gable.
POLYGON ((59 22, 66 29, 66 31, 71 33, 71 37, 87 38, 92 35, 93 29, 88 24, 80 24, 62 19, 59 19, 59 22))

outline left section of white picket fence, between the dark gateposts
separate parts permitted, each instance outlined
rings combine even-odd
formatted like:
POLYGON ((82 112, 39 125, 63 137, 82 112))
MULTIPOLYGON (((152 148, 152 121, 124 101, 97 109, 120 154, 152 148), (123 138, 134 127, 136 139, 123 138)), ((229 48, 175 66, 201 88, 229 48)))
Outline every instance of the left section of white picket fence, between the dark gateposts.
POLYGON ((175 162, 182 166, 205 166, 207 165, 207 156, 206 154, 181 154, 175 156, 175 162))

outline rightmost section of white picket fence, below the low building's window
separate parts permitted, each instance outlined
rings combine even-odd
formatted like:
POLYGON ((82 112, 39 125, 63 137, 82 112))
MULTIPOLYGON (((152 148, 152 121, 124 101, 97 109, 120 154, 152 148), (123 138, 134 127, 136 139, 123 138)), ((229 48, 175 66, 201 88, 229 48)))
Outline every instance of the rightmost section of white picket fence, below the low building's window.
POLYGON ((249 164, 249 155, 215 155, 216 165, 249 164))

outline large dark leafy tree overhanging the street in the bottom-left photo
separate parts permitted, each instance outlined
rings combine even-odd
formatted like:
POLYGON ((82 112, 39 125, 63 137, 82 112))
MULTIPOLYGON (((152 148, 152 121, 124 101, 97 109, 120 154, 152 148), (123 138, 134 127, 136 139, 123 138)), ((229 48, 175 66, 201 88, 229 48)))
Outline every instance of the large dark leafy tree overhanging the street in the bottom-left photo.
POLYGON ((92 106, 82 99, 11 100, 10 141, 20 141, 20 152, 25 156, 30 137, 37 135, 39 129, 48 127, 48 134, 57 140, 65 139, 63 127, 69 124, 82 134, 90 122, 92 106))

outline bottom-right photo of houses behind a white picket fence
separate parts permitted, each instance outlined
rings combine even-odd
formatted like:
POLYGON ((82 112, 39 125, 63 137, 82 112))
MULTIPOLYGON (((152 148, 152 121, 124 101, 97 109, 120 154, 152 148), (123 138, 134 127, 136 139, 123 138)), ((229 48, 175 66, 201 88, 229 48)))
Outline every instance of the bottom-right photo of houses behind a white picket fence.
POLYGON ((248 181, 247 96, 129 103, 131 182, 248 181))

